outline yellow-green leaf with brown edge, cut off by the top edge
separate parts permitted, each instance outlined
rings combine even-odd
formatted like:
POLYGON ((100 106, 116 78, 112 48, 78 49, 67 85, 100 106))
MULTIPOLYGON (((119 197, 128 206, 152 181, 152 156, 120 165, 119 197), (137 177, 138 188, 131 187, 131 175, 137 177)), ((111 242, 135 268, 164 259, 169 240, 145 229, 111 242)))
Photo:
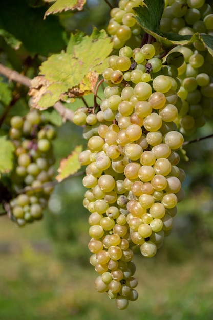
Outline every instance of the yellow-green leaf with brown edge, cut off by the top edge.
MULTIPOLYGON (((48 0, 51 2, 52 0, 48 0)), ((78 11, 83 9, 83 5, 86 3, 86 0, 56 0, 56 2, 45 12, 45 17, 49 14, 55 14, 67 10, 78 11)))

